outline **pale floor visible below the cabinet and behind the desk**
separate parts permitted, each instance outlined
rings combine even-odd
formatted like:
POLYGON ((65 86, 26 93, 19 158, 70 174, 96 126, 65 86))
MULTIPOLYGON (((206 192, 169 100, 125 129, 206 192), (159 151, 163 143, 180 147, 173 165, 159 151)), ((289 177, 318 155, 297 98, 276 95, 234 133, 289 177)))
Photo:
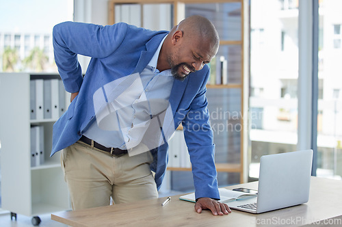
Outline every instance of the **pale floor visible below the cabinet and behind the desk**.
MULTIPOLYGON (((159 193, 159 197, 165 196, 173 196, 178 195, 181 192, 179 191, 166 191, 159 193)), ((40 222, 40 227, 66 227, 67 225, 61 224, 60 222, 55 222, 51 220, 51 214, 42 214, 39 215, 42 222, 40 222)), ((32 217, 27 217, 25 215, 16 215, 16 221, 13 219, 11 220, 11 215, 9 211, 1 211, 0 209, 0 226, 1 227, 32 227, 34 226, 31 223, 32 217)))

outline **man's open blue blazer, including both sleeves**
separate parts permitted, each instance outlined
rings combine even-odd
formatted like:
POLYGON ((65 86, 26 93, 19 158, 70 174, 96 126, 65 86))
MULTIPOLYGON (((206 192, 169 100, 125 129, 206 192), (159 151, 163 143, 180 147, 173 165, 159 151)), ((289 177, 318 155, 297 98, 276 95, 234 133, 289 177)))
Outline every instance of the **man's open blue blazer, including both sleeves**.
MULTIPOLYGON (((93 25, 65 22, 53 28, 55 62, 67 92, 79 92, 68 110, 53 125, 51 156, 77 142, 95 120, 93 95, 98 88, 120 77, 142 72, 168 31, 150 31, 117 23, 93 25), (77 54, 92 57, 82 77, 77 54)), ((213 132, 205 93, 209 67, 192 73, 185 81, 174 80, 170 106, 172 130, 183 124, 194 176, 196 198, 219 199, 214 163, 213 132)), ((168 163, 168 144, 151 150, 159 189, 168 163)))

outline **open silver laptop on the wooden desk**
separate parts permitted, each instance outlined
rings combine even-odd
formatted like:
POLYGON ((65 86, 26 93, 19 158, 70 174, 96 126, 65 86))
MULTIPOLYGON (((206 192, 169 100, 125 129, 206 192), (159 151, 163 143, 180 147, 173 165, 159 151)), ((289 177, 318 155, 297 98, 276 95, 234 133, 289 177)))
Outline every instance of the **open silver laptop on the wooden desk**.
POLYGON ((300 150, 260 159, 258 194, 226 202, 231 209, 263 213, 308 202, 313 150, 300 150))

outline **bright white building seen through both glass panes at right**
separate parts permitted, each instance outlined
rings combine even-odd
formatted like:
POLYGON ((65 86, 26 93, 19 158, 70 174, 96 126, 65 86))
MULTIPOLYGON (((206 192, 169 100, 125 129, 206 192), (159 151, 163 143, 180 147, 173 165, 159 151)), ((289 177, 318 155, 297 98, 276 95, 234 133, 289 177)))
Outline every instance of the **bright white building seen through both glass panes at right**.
MULTIPOLYGON (((250 178, 257 178, 261 155, 297 150, 298 1, 251 0, 250 4, 251 30, 265 31, 262 48, 260 37, 253 32, 250 36, 250 87, 263 88, 263 97, 250 93, 250 178)), ((314 66, 318 67, 317 176, 337 179, 342 176, 342 18, 334 9, 341 7, 338 0, 319 0, 319 60, 314 66)))

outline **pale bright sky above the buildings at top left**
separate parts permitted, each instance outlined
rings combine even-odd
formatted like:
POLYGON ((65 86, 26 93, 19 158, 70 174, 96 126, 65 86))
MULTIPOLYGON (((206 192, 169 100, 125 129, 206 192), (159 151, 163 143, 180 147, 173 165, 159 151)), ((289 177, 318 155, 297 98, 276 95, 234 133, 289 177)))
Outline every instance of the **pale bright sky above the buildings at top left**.
POLYGON ((73 0, 0 0, 0 32, 51 33, 73 21, 73 0))

